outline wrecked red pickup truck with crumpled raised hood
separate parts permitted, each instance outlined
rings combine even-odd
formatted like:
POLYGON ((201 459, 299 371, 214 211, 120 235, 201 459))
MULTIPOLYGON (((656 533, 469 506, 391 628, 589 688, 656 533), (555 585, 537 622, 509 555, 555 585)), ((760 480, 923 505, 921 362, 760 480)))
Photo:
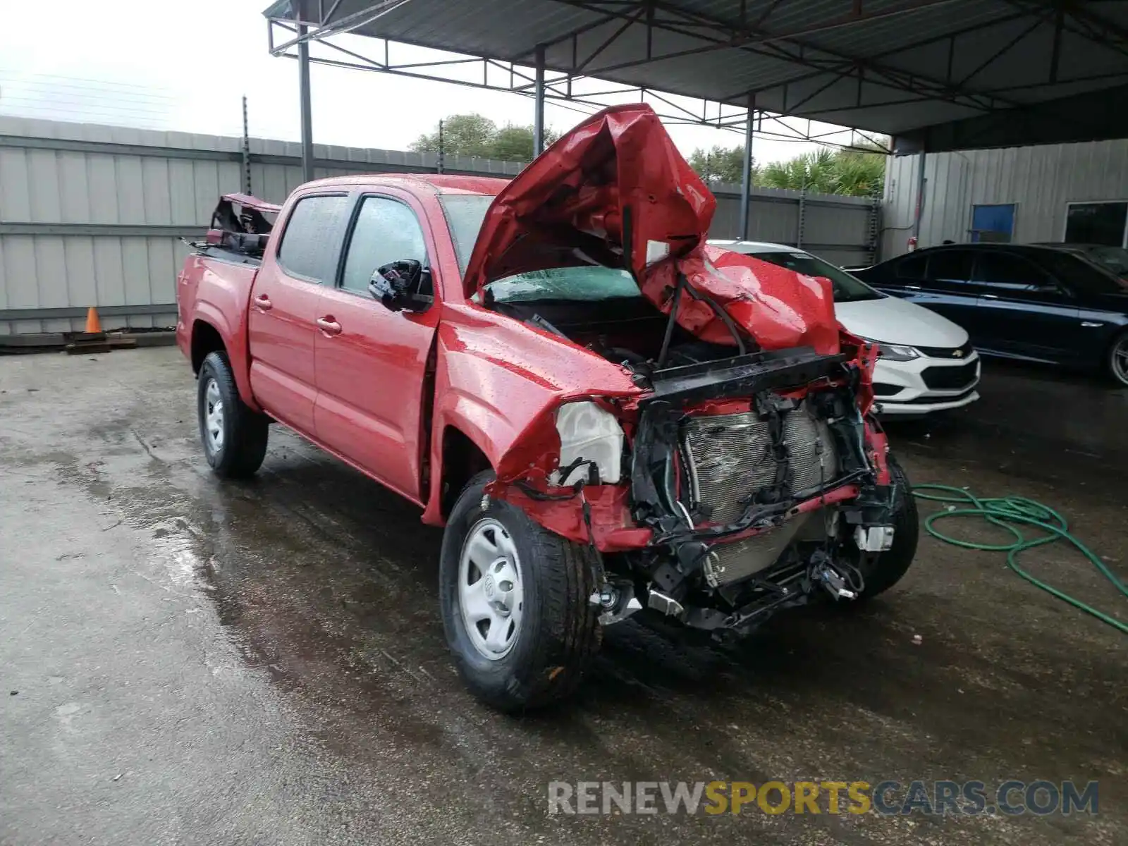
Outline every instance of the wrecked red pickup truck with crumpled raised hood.
POLYGON ((635 613, 724 638, 885 590, 917 518, 878 350, 827 280, 706 245, 714 208, 643 105, 512 182, 224 199, 177 284, 208 461, 253 474, 276 421, 418 504, 458 670, 510 711, 635 613))

